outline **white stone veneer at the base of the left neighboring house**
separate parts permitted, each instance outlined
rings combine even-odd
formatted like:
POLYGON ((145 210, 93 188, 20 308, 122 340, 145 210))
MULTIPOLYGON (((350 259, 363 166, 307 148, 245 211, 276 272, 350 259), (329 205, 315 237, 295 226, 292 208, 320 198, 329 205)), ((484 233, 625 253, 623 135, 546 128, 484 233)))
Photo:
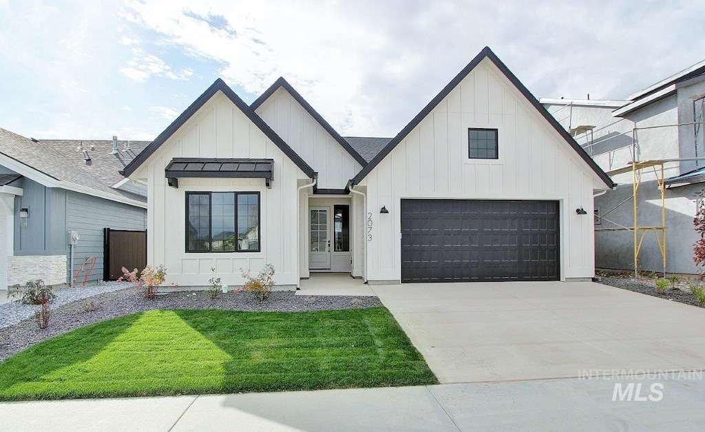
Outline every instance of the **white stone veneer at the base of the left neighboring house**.
POLYGON ((66 255, 8 256, 7 285, 41 279, 47 285, 66 283, 66 255))

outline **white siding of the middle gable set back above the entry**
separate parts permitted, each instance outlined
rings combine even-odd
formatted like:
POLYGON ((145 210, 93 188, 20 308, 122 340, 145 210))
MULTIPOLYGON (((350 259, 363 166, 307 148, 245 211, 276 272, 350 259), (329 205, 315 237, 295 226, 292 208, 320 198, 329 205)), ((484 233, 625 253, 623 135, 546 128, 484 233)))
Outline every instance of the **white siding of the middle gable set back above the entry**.
POLYGON ((344 189, 362 167, 284 88, 256 110, 318 172, 318 187, 344 189))

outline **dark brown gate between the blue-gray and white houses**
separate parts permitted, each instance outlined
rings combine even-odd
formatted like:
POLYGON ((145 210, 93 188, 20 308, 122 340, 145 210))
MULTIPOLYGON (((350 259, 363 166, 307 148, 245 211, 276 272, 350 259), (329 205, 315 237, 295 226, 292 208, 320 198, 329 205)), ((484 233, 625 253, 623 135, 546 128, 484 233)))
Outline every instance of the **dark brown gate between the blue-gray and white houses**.
POLYGON ((147 232, 123 229, 103 230, 103 280, 117 280, 122 268, 142 270, 147 265, 147 232))

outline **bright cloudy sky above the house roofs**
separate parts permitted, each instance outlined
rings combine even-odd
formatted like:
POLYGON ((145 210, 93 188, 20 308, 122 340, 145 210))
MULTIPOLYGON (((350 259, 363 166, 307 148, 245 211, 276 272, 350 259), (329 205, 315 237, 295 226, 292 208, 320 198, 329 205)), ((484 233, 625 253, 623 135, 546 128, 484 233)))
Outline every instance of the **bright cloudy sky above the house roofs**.
POLYGON ((152 140, 221 77, 285 77, 394 136, 484 46, 537 97, 620 99, 705 58, 705 1, 0 0, 0 127, 152 140))

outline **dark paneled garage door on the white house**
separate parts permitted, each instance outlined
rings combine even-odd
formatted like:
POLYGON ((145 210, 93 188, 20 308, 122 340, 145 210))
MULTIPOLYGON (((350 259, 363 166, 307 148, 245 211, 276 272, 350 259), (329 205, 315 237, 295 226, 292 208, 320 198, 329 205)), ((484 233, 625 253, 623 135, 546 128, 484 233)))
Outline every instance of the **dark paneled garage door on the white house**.
POLYGON ((558 280, 558 202, 401 200, 402 282, 558 280))

